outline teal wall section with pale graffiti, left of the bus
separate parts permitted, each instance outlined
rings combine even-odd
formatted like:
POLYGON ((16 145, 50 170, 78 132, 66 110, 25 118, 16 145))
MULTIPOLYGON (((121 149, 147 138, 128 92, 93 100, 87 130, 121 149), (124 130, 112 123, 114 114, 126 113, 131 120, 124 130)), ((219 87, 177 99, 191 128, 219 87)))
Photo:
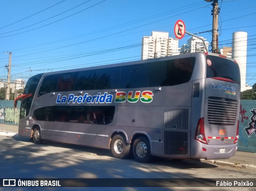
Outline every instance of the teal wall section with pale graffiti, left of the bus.
POLYGON ((13 100, 0 100, 0 124, 18 126, 20 119, 20 101, 17 108, 13 107, 13 100))

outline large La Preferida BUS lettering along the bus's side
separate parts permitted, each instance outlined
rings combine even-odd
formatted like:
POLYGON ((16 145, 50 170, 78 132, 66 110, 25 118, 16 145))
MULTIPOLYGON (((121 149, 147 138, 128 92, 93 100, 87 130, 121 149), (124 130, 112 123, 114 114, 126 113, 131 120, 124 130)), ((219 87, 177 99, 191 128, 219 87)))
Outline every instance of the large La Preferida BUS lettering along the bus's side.
MULTIPOLYGON (((126 102, 126 100, 130 103, 136 103, 138 100, 140 100, 143 103, 150 103, 153 100, 153 93, 152 91, 129 91, 126 92, 116 92, 116 103, 123 103, 126 102)), ((85 93, 83 96, 75 96, 74 94, 70 94, 68 96, 61 96, 61 94, 58 94, 56 103, 64 104, 64 103, 112 103, 113 95, 108 94, 105 92, 104 94, 101 94, 100 92, 97 95, 88 95, 88 93, 85 93)))

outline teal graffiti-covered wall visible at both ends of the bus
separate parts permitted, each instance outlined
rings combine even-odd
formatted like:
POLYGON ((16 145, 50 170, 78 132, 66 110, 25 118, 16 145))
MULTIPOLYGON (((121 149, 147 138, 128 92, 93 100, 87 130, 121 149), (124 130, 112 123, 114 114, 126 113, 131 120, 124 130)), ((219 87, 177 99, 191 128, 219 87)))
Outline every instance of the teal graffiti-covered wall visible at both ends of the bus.
MULTIPOLYGON (((0 124, 18 126, 20 101, 17 108, 13 101, 0 100, 0 124)), ((241 100, 239 115, 238 151, 256 153, 256 100, 241 100)))

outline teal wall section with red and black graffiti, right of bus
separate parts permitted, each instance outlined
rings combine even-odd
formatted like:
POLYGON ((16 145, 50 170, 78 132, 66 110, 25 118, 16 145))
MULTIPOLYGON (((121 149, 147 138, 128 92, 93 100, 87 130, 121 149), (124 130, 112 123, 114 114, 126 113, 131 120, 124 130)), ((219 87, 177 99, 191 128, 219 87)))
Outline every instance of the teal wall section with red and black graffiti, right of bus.
POLYGON ((256 100, 241 100, 238 151, 256 153, 256 100))

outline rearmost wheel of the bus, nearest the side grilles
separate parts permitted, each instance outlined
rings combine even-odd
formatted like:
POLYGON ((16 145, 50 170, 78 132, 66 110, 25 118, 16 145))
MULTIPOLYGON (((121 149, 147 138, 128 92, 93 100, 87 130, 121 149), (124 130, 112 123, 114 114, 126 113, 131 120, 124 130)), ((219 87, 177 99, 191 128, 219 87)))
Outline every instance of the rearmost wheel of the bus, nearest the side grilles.
POLYGON ((134 158, 140 163, 146 163, 151 160, 150 143, 146 137, 138 137, 132 147, 134 158))

